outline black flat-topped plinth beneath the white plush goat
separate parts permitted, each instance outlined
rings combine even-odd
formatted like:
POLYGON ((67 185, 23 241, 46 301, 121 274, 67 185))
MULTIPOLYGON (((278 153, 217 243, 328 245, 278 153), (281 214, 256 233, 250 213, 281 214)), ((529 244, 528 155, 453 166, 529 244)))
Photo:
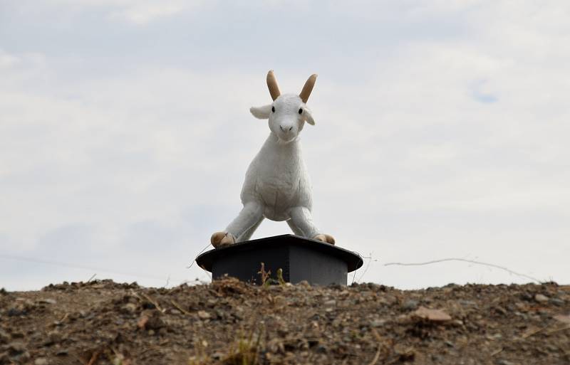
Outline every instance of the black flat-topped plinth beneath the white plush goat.
POLYGON ((212 279, 223 275, 261 284, 259 270, 264 263, 276 280, 277 270, 283 270, 286 282, 302 280, 310 284, 346 285, 347 274, 360 268, 360 255, 343 248, 294 235, 249 240, 224 248, 209 250, 196 258, 197 264, 212 273, 212 279))

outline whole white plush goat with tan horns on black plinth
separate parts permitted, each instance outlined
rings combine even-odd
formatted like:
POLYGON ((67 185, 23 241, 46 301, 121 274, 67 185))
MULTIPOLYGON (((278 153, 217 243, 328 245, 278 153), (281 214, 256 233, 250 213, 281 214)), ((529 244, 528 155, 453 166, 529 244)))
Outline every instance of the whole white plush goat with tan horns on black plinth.
POLYGON ((334 244, 334 238, 320 233, 313 223, 311 182, 299 143, 305 122, 315 124, 306 107, 315 81, 316 75, 311 75, 301 94, 281 95, 273 71, 267 73, 273 103, 249 111, 254 117, 269 119, 271 133, 247 169, 242 187, 244 208, 226 231, 212 235, 214 247, 249 240, 264 218, 287 221, 298 236, 334 244))

